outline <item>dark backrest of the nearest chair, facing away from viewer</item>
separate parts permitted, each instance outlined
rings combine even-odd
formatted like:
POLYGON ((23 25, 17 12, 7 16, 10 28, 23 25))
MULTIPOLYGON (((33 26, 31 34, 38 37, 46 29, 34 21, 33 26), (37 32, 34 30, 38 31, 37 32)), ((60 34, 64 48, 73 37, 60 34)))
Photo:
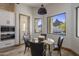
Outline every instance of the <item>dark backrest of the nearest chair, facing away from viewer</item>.
POLYGON ((30 42, 32 56, 43 56, 43 43, 30 42))

